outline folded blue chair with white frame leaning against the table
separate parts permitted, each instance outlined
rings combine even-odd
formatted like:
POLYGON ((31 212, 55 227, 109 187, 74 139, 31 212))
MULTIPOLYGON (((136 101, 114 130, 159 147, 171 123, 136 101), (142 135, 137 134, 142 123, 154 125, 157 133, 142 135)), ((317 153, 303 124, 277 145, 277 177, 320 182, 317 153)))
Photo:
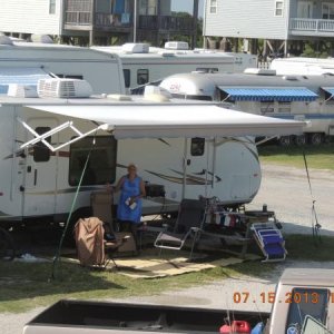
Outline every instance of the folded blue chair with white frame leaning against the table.
POLYGON ((272 222, 254 223, 254 238, 265 256, 263 262, 284 261, 286 257, 285 240, 281 230, 272 222))

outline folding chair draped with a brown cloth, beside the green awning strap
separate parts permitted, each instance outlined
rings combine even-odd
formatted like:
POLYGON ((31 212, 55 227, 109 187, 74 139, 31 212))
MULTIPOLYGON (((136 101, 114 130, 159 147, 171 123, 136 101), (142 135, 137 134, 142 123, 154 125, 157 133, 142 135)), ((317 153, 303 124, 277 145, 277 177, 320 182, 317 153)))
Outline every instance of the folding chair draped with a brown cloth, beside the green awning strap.
MULTIPOLYGON (((109 233, 112 236, 112 233, 109 233)), ((105 238, 104 223, 97 217, 79 219, 75 226, 78 258, 82 266, 105 267, 109 261, 117 265, 114 254, 130 236, 105 238), (108 255, 106 257, 106 254, 108 255)))

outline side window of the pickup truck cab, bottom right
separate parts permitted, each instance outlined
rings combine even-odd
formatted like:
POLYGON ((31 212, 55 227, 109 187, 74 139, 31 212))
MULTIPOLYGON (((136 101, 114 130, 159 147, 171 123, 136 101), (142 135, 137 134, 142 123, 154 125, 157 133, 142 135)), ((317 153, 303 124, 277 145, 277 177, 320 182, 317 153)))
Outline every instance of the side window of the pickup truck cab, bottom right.
POLYGON ((328 298, 330 291, 325 288, 294 288, 291 294, 286 294, 284 302, 289 304, 286 331, 292 326, 302 328, 306 315, 325 324, 328 298))

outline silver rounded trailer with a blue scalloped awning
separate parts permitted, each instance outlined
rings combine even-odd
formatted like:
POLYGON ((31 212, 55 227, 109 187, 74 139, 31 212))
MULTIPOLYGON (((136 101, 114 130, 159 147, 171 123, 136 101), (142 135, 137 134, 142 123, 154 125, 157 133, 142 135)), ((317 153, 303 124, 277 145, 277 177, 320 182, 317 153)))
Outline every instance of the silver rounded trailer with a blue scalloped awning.
POLYGON ((318 145, 334 136, 334 77, 277 76, 274 70, 244 73, 180 73, 160 84, 174 97, 230 102, 238 110, 281 119, 306 120, 299 136, 283 145, 318 145))

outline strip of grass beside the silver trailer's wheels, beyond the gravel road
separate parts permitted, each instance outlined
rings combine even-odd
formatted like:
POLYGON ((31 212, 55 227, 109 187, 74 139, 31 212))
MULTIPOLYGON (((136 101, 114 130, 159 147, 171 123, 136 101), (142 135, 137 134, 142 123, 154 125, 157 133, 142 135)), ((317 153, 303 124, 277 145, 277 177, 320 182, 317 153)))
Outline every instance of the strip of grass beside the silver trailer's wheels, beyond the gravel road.
POLYGON ((292 146, 276 145, 258 146, 262 163, 287 165, 304 168, 303 150, 305 151, 308 168, 334 170, 334 144, 322 146, 292 146))

